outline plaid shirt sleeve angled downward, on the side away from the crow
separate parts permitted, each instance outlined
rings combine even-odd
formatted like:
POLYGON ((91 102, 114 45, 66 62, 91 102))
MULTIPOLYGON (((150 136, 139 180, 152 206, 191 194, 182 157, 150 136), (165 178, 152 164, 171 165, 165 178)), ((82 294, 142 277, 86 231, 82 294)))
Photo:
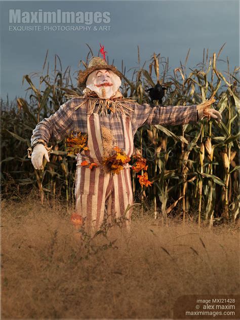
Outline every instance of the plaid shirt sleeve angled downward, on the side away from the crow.
POLYGON ((55 138, 56 140, 63 139, 73 130, 73 112, 73 104, 69 100, 62 104, 50 117, 44 118, 32 131, 31 145, 39 141, 45 142, 48 145, 50 138, 55 138))

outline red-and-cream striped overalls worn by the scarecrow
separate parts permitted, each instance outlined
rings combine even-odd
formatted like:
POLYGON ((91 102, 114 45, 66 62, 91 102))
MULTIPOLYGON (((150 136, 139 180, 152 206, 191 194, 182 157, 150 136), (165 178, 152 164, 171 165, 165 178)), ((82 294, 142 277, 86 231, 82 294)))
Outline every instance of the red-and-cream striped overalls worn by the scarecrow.
MULTIPOLYGON (((130 118, 122 116, 124 134, 124 150, 131 156, 134 151, 133 133, 130 118)), ((107 222, 114 218, 124 217, 124 223, 129 230, 131 209, 126 212, 128 205, 133 204, 130 166, 119 174, 103 173, 100 168, 89 169, 81 163, 100 164, 102 161, 102 138, 100 116, 97 113, 87 115, 88 148, 77 154, 77 168, 75 180, 76 211, 85 220, 86 230, 97 231, 106 213, 107 222), (107 210, 105 211, 105 206, 107 210), (125 215, 126 214, 126 215, 125 215)))

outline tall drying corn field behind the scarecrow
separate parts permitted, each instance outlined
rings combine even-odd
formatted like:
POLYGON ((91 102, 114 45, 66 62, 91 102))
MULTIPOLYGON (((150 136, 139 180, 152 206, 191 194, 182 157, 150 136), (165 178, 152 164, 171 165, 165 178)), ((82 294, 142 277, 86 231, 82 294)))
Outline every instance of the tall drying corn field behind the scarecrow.
MULTIPOLYGON (((224 46, 224 45, 223 45, 224 46)), ((187 68, 190 49, 184 64, 170 72, 169 59, 153 54, 141 63, 138 48, 137 67, 131 78, 122 62, 122 92, 124 97, 135 97, 138 103, 150 103, 146 89, 157 80, 168 88, 164 105, 200 104, 212 95, 213 107, 223 120, 202 119, 196 124, 179 126, 143 126, 135 135, 135 147, 146 159, 152 186, 141 188, 132 173, 135 201, 142 212, 153 208, 154 218, 166 219, 180 209, 183 222, 197 221, 213 226, 218 222, 235 222, 238 216, 238 72, 220 71, 217 62, 222 48, 210 55, 203 52, 203 61, 187 68), (187 72, 187 69, 190 71, 187 72)), ((93 53, 89 48, 81 67, 87 66, 93 53)), ((114 61, 108 61, 114 64, 114 61)), ((75 157, 67 156, 65 141, 52 141, 50 163, 44 170, 35 170, 27 157, 27 147, 36 124, 58 110, 67 99, 65 94, 82 92, 74 86, 76 73, 62 68, 58 55, 51 67, 48 53, 41 72, 23 76, 27 83, 26 98, 1 101, 2 106, 2 195, 22 199, 36 190, 43 202, 65 199, 74 208, 75 157), (53 71, 52 71, 53 69, 53 71)), ((164 106, 162 106, 164 108, 164 106)))

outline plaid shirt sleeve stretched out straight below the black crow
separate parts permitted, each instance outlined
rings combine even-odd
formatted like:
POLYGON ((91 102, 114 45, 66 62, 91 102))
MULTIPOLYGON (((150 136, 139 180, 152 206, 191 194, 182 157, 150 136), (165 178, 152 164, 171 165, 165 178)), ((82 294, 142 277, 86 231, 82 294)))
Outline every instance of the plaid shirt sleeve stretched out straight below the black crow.
POLYGON ((132 123, 137 131, 143 125, 185 125, 197 122, 196 104, 186 106, 153 106, 134 102, 132 123))

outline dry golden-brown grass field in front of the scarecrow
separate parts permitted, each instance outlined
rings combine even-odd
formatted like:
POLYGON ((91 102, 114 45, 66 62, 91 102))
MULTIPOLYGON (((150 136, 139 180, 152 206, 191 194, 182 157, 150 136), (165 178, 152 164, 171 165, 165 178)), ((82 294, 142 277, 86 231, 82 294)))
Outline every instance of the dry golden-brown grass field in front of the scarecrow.
POLYGON ((77 241, 70 212, 2 205, 2 318, 171 318, 184 294, 238 294, 237 228, 149 215, 77 241))

